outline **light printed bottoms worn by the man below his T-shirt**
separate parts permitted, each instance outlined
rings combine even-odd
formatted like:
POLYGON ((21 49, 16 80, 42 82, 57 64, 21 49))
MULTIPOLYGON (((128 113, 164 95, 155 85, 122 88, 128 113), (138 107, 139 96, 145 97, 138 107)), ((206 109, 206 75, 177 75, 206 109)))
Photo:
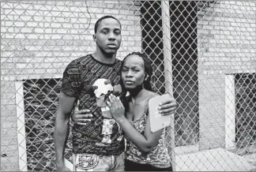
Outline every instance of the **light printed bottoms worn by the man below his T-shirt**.
POLYGON ((73 154, 73 171, 124 171, 122 155, 73 154))

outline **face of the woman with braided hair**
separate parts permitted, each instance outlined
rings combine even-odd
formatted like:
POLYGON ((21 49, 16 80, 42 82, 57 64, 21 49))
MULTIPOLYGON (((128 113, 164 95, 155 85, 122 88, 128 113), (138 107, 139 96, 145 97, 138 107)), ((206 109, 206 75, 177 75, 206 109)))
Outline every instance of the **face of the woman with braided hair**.
POLYGON ((145 67, 143 59, 132 54, 123 62, 122 66, 122 82, 125 88, 137 88, 143 84, 145 79, 145 67))

